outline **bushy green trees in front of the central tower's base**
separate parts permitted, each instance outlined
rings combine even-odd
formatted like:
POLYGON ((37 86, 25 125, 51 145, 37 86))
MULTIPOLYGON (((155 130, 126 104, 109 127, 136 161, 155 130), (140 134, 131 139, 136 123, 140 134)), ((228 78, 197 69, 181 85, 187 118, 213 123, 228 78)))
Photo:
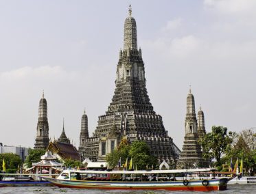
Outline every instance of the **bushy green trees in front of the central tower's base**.
POLYGON ((132 158, 132 165, 137 166, 137 169, 146 169, 146 166, 156 165, 157 161, 150 153, 150 146, 145 141, 133 141, 130 145, 121 146, 118 150, 107 154, 106 161, 110 168, 117 167, 119 159, 121 164, 126 162, 126 158, 130 161, 132 158))

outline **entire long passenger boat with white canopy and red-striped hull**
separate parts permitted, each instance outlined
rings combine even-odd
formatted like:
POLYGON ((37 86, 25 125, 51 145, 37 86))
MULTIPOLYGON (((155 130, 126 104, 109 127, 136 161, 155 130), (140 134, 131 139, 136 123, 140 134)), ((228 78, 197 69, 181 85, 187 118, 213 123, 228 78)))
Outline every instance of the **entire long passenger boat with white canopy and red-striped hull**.
POLYGON ((216 191, 225 190, 235 178, 218 178, 216 169, 174 169, 151 171, 96 171, 67 169, 57 178, 40 176, 60 187, 120 190, 216 191))

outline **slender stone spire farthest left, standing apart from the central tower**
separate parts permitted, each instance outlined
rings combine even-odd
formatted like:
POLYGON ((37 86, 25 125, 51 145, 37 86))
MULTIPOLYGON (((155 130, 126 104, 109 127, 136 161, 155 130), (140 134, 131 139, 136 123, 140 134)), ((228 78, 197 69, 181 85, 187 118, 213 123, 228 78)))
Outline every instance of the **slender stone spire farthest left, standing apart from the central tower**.
POLYGON ((36 128, 36 143, 34 149, 46 149, 49 144, 49 124, 47 118, 47 101, 45 94, 39 101, 38 123, 36 128))

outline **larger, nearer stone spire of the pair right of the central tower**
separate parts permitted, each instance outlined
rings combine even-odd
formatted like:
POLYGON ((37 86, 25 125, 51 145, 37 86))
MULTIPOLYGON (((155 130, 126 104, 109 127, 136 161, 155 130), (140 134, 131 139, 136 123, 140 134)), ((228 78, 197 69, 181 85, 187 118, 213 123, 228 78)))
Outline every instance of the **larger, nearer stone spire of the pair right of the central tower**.
POLYGON ((183 151, 178 159, 178 168, 207 167, 207 161, 202 159, 201 147, 198 144, 198 130, 195 110, 195 100, 191 89, 187 94, 187 113, 185 118, 185 137, 183 151))

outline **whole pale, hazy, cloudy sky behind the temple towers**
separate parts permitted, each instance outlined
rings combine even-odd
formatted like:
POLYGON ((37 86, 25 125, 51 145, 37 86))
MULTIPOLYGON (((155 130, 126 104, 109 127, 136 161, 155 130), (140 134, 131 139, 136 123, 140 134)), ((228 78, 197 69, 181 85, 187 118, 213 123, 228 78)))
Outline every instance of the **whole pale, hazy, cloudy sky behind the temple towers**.
POLYGON ((128 6, 137 21, 148 95, 182 149, 186 98, 207 132, 256 126, 256 1, 0 0, 0 142, 32 148, 43 90, 49 137, 79 146, 114 94, 128 6))

